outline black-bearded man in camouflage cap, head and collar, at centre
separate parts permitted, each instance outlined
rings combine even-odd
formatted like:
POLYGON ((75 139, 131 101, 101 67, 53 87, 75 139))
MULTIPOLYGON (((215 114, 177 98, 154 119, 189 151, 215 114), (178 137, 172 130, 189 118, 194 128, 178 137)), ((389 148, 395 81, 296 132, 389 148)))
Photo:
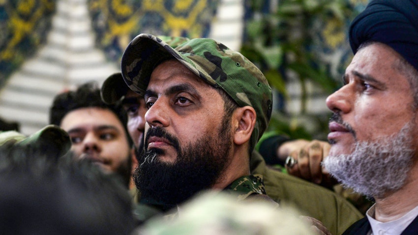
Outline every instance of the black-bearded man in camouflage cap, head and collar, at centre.
POLYGON ((140 34, 126 48, 121 71, 148 108, 145 152, 134 175, 144 203, 169 209, 205 189, 271 201, 261 176, 249 170, 272 100, 254 64, 211 39, 173 49, 140 34))

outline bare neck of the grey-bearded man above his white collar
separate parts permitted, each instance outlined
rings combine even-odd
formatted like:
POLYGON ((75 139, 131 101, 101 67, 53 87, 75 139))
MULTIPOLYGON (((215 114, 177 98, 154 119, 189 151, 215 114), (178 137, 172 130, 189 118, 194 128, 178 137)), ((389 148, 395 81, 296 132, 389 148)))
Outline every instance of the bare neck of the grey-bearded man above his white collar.
POLYGON ((402 188, 390 192, 383 198, 375 198, 375 219, 380 222, 396 220, 418 206, 418 167, 410 170, 408 179, 402 188))

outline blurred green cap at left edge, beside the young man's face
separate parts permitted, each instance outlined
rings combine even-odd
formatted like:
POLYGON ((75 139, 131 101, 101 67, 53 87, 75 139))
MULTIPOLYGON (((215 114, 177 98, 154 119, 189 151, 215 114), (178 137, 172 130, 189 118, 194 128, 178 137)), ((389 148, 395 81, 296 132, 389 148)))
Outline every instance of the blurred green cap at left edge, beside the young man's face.
POLYGON ((13 142, 16 146, 30 146, 42 152, 62 156, 71 148, 67 132, 56 125, 47 125, 29 137, 17 131, 0 132, 0 146, 13 142))

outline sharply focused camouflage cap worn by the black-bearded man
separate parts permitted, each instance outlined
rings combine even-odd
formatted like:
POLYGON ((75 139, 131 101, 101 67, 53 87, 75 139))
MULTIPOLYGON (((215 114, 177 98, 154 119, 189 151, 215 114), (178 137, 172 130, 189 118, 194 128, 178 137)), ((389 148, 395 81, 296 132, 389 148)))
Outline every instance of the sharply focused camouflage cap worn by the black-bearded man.
POLYGON ((269 124, 272 94, 263 73, 239 52, 209 38, 191 39, 175 49, 151 34, 136 36, 122 56, 122 77, 130 89, 144 95, 153 69, 175 58, 215 88, 222 88, 239 107, 251 106, 257 114, 251 149, 269 124))

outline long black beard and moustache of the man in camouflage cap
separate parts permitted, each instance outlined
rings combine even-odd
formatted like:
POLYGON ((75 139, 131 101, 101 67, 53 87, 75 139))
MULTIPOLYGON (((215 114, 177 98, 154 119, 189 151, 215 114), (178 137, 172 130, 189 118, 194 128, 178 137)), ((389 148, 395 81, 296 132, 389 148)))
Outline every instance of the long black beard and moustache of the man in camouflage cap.
MULTIPOLYGON (((168 210, 183 203, 199 191, 209 189, 219 180, 229 162, 232 147, 230 121, 223 120, 218 136, 203 135, 183 149, 176 137, 162 127, 150 128, 150 136, 162 137, 177 150, 173 164, 161 162, 162 149, 151 148, 141 153, 138 168, 134 172, 135 185, 141 192, 141 202, 168 210)), ((145 149, 148 148, 146 144, 145 149)))

